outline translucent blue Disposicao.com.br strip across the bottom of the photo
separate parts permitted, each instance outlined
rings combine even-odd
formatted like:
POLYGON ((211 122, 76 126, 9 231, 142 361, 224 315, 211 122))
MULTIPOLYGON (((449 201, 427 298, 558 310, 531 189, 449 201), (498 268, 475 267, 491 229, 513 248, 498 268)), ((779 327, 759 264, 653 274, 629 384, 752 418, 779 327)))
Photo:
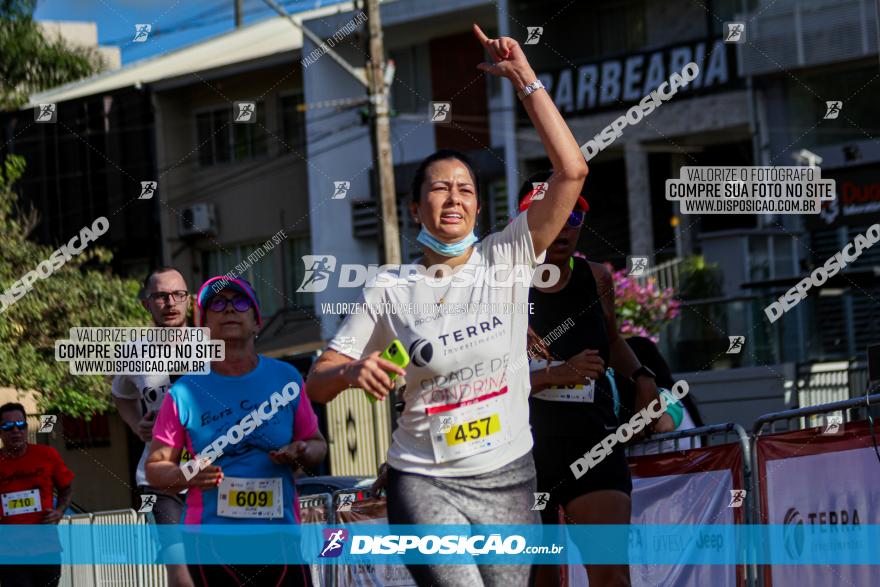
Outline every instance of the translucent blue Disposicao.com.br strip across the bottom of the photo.
POLYGON ((4 525, 0 564, 878 565, 878 525, 4 525), (60 554, 59 554, 60 553, 60 554))

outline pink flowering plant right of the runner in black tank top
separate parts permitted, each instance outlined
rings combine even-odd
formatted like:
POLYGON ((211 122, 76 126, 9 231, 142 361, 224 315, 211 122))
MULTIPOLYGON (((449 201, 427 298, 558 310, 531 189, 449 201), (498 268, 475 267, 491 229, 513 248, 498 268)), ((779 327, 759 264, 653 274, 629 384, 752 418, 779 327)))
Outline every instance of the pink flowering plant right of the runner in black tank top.
POLYGON ((629 277, 626 269, 615 271, 610 264, 605 266, 614 279, 614 306, 620 333, 624 337, 644 336, 658 342, 663 326, 679 314, 681 304, 673 297, 672 288, 661 290, 653 277, 643 286, 629 277))

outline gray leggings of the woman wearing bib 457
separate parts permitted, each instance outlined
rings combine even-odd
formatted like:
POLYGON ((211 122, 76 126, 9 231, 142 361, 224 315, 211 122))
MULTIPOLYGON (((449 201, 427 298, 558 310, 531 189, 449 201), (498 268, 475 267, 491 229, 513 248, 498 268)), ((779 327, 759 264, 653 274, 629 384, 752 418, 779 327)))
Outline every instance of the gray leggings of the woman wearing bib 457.
MULTIPOLYGON (((473 477, 426 477, 388 468, 391 524, 540 524, 532 453, 473 477)), ((526 587, 529 565, 407 565, 420 587, 526 587)))

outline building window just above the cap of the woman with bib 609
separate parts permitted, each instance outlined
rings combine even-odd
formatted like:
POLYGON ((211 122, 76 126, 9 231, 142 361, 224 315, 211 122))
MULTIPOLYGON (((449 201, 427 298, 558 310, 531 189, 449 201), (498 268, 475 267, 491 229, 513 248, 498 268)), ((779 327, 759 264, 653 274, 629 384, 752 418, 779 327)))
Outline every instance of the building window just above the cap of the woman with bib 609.
POLYGON ((206 279, 229 273, 250 282, 260 300, 264 322, 278 310, 279 294, 275 282, 275 255, 278 254, 278 248, 264 250, 263 255, 254 261, 249 261, 248 256, 263 249, 265 242, 263 240, 254 244, 224 246, 223 250, 206 251, 203 257, 204 266, 208 269, 206 279))

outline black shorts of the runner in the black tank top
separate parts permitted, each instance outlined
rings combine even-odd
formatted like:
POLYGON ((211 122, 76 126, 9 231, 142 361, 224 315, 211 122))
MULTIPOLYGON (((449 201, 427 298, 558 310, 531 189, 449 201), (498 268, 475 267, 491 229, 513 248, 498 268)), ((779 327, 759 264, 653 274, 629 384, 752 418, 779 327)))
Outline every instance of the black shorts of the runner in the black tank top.
POLYGON ((545 524, 558 524, 558 506, 593 491, 615 490, 632 494, 632 477, 624 447, 616 444, 610 455, 602 459, 579 479, 571 464, 590 449, 614 434, 620 425, 613 403, 600 399, 597 403, 579 404, 532 398, 532 438, 538 492, 549 493, 549 502, 541 510, 545 524), (540 403, 539 403, 540 402, 540 403))

